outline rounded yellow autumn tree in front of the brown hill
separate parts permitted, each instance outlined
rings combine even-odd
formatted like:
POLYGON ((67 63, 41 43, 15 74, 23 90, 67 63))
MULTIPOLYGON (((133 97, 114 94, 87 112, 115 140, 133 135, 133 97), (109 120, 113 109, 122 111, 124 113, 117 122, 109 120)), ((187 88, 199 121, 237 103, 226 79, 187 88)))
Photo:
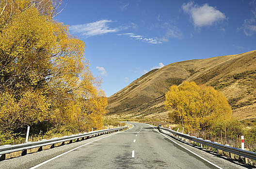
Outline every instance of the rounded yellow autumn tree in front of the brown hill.
POLYGON ((165 98, 169 116, 189 130, 208 130, 231 117, 232 110, 226 98, 211 86, 183 82, 171 86, 165 98))

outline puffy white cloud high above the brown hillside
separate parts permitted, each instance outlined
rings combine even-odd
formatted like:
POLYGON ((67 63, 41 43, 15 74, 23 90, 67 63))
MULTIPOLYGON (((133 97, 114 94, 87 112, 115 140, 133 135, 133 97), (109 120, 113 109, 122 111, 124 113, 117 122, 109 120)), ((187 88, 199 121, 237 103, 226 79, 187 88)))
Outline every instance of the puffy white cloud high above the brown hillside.
POLYGON ((190 14, 195 27, 211 26, 214 23, 227 19, 225 14, 207 3, 198 6, 194 2, 183 3, 182 9, 190 14))

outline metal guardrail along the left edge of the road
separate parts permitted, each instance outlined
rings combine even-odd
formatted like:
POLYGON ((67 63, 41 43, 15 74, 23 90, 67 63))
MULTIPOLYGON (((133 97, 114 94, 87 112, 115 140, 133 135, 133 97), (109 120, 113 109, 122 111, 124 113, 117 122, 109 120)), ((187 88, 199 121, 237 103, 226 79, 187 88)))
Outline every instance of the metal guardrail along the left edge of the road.
POLYGON ((79 141, 80 138, 82 138, 82 140, 84 140, 84 138, 86 137, 94 137, 94 136, 98 136, 101 134, 107 134, 107 133, 112 133, 115 131, 119 131, 122 129, 125 129, 126 127, 118 127, 118 128, 112 128, 112 129, 103 129, 103 130, 98 130, 98 131, 92 131, 89 133, 83 133, 83 134, 77 134, 77 135, 71 135, 71 136, 64 136, 61 138, 53 138, 53 139, 49 139, 49 140, 43 140, 43 141, 36 141, 36 142, 29 142, 29 143, 23 143, 23 144, 16 144, 16 145, 9 145, 9 146, 3 146, 0 147, 0 161, 5 159, 5 155, 9 154, 9 153, 13 153, 13 152, 17 152, 17 151, 22 151, 21 155, 26 155, 27 154, 27 150, 32 149, 32 148, 37 148, 39 147, 39 149, 37 150, 42 151, 43 146, 47 146, 47 145, 51 145, 51 148, 54 147, 54 144, 56 143, 60 143, 62 142, 62 145, 64 145, 65 141, 69 141, 69 143, 72 143, 73 140, 77 140, 79 141))

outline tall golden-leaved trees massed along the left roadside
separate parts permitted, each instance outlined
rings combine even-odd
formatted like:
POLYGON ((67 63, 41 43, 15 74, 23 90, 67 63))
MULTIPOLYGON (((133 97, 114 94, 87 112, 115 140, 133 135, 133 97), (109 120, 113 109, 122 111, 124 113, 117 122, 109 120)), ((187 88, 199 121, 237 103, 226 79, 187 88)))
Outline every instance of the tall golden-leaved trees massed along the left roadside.
POLYGON ((84 43, 54 20, 61 4, 61 0, 0 1, 3 131, 43 121, 73 124, 78 130, 102 123, 107 103, 98 91, 101 81, 84 59, 84 43))

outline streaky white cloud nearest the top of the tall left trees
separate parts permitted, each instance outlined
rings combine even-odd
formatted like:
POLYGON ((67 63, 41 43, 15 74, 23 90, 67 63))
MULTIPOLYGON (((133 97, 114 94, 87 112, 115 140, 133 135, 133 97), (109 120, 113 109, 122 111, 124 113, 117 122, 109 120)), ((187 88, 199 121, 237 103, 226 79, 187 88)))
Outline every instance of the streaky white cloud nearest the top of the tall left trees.
POLYGON ((113 33, 120 30, 120 28, 110 28, 109 23, 112 20, 99 20, 92 23, 82 24, 82 25, 72 25, 70 30, 74 33, 80 33, 83 36, 95 36, 102 35, 106 33, 113 33))

